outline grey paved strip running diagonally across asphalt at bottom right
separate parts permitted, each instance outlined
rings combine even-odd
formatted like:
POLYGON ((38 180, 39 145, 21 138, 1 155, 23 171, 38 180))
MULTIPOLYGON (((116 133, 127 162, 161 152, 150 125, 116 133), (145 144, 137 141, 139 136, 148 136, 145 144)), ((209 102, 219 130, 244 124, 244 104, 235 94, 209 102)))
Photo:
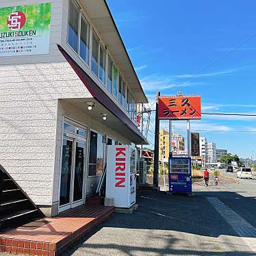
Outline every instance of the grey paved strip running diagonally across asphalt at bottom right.
POLYGON ((209 203, 216 209, 216 211, 225 218, 229 225, 235 230, 244 242, 256 252, 256 229, 249 222, 244 220, 239 214, 229 208, 225 203, 216 197, 207 197, 209 203))

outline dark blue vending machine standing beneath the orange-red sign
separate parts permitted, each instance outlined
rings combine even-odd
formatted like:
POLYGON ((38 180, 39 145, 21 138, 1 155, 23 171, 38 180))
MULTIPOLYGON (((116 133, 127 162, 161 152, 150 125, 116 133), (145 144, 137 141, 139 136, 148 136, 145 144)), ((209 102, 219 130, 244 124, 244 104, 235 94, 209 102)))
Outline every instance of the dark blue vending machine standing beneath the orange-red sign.
POLYGON ((191 157, 169 157, 169 192, 192 194, 191 157))

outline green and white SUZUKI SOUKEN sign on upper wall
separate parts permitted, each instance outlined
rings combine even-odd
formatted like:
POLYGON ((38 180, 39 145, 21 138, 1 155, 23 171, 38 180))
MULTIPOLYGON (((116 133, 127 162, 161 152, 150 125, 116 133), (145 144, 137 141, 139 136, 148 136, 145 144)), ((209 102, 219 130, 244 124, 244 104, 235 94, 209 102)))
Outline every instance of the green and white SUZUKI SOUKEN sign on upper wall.
POLYGON ((0 8, 0 57, 49 54, 51 3, 0 8))

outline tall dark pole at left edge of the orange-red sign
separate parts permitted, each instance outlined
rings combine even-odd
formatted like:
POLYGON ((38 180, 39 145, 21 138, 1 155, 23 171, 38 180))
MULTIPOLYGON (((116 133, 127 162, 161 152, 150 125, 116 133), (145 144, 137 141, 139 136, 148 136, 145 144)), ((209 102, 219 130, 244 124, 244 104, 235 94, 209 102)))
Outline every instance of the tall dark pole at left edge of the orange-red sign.
POLYGON ((160 92, 157 92, 155 103, 155 151, 154 151, 154 172, 153 183, 158 186, 158 170, 159 170, 159 118, 158 118, 158 98, 160 92))

